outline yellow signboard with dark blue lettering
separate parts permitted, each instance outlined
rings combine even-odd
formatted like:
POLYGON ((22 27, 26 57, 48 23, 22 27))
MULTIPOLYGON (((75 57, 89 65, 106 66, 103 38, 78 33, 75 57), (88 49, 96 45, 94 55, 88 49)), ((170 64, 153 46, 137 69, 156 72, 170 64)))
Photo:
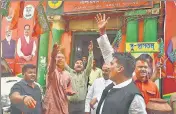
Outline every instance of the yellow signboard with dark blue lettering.
POLYGON ((159 44, 158 42, 126 43, 126 52, 159 52, 159 44))

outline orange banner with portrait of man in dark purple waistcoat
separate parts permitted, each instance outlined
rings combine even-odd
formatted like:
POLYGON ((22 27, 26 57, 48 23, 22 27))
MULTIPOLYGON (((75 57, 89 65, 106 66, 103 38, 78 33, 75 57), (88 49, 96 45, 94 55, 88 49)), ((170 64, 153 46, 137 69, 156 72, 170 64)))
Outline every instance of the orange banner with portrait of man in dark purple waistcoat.
POLYGON ((18 2, 9 4, 7 16, 3 16, 1 20, 1 57, 6 60, 12 72, 15 71, 15 57, 16 57, 16 44, 17 44, 17 28, 10 29, 11 23, 14 18, 15 8, 18 2))

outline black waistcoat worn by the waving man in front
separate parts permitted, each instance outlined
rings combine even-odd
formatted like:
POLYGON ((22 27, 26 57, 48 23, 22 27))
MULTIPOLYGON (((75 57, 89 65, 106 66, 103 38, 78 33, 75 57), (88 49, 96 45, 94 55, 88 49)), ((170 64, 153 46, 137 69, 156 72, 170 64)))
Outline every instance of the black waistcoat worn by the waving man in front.
POLYGON ((136 94, 141 95, 133 82, 123 88, 112 87, 113 84, 110 84, 104 89, 96 114, 100 114, 100 108, 103 101, 104 105, 101 114, 128 114, 129 107, 134 99, 134 96, 136 94), (104 98, 105 100, 103 100, 104 98))

